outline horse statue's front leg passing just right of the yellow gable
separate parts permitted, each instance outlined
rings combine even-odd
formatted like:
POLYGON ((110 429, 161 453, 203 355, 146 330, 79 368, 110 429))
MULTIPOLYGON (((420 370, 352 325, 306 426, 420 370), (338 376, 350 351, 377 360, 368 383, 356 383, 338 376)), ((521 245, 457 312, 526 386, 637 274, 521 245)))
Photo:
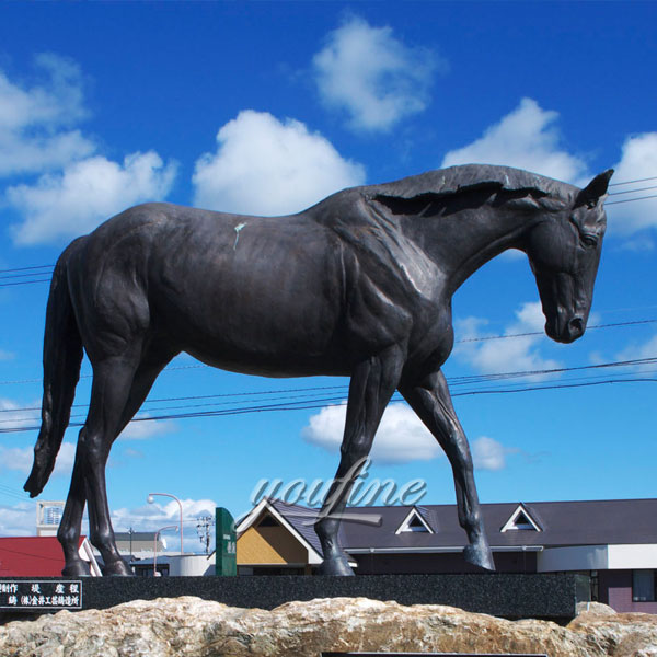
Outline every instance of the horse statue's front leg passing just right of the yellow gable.
POLYGON ((341 517, 402 367, 402 350, 394 347, 360 362, 351 374, 339 465, 314 526, 324 555, 320 575, 354 575, 337 535, 341 517))

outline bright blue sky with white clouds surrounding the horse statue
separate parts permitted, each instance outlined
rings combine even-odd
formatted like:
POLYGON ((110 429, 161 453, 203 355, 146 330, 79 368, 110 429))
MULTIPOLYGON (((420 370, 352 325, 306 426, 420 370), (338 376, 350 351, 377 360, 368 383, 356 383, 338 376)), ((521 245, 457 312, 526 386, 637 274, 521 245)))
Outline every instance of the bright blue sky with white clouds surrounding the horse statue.
MULTIPOLYGON (((137 203, 276 215, 466 162, 575 184, 614 166, 612 183, 654 180, 612 192, 653 189, 609 203, 656 194, 656 21, 654 2, 3 4, 0 427, 37 422, 22 410, 41 403, 48 286, 30 281, 137 203)), ((525 256, 500 256, 454 297, 461 342, 445 371, 454 395, 480 393, 454 404, 483 502, 655 495, 654 362, 460 379, 657 358, 657 199, 608 208, 589 322, 603 327, 577 343, 534 334, 525 256), (479 339, 519 333, 532 335, 479 339)), ((84 362, 74 415, 89 373, 84 362)), ((175 522, 174 503, 146 504, 168 492, 184 500, 188 546, 200 549, 194 518, 215 504, 239 515, 260 480, 331 477, 344 410, 328 401, 345 395, 346 380, 249 378, 177 358, 146 414, 313 407, 134 423, 107 469, 115 529, 175 522)), ((65 498, 77 431, 42 498, 65 498)), ((22 485, 35 438, 0 435, 0 534, 34 531, 22 485)), ((419 477, 425 503, 453 502, 445 457, 405 406, 384 417, 373 457, 369 481, 419 477)))

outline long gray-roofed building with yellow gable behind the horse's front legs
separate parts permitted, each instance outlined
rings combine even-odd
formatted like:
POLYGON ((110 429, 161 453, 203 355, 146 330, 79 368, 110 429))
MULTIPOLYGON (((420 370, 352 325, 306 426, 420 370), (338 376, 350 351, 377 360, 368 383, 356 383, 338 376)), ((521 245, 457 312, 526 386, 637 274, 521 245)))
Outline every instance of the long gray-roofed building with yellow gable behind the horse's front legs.
MULTIPOLYGON (((593 599, 657 613, 657 499, 482 505, 496 568, 581 573, 593 599)), ((238 574, 312 575, 322 563, 316 509, 264 498, 238 523, 238 574)), ((349 507, 342 544, 358 575, 468 573, 454 505, 349 507)))

